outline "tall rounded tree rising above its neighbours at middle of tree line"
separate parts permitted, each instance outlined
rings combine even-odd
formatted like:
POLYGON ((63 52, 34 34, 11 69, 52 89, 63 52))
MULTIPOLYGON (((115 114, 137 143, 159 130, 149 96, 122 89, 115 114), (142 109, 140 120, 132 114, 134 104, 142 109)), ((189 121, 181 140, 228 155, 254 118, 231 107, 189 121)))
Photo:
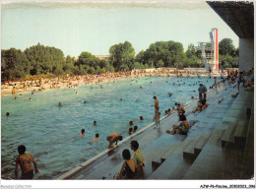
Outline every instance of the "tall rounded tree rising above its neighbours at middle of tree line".
POLYGON ((130 42, 112 45, 109 48, 109 54, 109 61, 116 71, 133 68, 135 50, 130 42))

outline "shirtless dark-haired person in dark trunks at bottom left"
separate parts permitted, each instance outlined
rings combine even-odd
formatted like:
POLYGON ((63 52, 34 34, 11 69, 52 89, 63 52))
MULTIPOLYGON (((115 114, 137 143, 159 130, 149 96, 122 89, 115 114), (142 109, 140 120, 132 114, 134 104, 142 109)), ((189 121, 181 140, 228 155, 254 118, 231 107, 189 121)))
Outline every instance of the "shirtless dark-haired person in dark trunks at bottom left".
POLYGON ((19 165, 22 169, 21 179, 31 180, 33 177, 32 163, 35 169, 35 173, 39 172, 37 168, 37 163, 32 158, 32 154, 26 154, 26 147, 21 145, 18 147, 19 157, 16 158, 16 167, 15 167, 15 178, 18 178, 19 165))

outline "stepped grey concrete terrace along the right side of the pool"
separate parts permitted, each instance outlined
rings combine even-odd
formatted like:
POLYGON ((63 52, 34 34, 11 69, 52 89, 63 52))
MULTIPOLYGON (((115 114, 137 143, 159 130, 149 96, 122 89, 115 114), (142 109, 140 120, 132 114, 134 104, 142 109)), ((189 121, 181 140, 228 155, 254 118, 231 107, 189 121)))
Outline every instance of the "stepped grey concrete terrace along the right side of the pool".
POLYGON ((196 123, 187 136, 166 134, 178 117, 176 113, 164 116, 160 127, 148 125, 57 179, 113 179, 123 162, 121 153, 130 150, 132 140, 139 142, 145 158, 144 171, 136 179, 250 179, 254 175, 254 92, 241 89, 232 97, 236 92, 228 84, 218 92, 211 90, 210 106, 200 113, 191 113, 197 100, 188 102, 187 120, 196 123))

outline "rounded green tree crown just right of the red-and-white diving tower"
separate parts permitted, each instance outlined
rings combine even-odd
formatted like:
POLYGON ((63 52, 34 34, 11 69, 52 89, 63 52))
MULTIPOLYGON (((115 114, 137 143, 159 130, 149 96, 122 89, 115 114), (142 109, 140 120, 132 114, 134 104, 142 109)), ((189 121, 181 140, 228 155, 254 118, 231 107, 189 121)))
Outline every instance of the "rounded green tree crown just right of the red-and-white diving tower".
POLYGON ((233 42, 230 38, 224 38, 219 42, 219 54, 230 55, 232 57, 236 55, 236 49, 234 48, 233 42))

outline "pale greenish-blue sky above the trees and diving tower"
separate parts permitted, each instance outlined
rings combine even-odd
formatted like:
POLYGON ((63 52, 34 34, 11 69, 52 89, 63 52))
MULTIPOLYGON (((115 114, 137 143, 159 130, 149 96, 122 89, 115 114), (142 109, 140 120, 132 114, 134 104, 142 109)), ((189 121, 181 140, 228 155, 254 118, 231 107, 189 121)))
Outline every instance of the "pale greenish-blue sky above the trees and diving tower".
POLYGON ((64 55, 88 51, 108 55, 111 45, 129 41, 136 54, 156 41, 198 45, 238 36, 204 1, 176 2, 2 2, 1 49, 25 50, 38 42, 64 55))

